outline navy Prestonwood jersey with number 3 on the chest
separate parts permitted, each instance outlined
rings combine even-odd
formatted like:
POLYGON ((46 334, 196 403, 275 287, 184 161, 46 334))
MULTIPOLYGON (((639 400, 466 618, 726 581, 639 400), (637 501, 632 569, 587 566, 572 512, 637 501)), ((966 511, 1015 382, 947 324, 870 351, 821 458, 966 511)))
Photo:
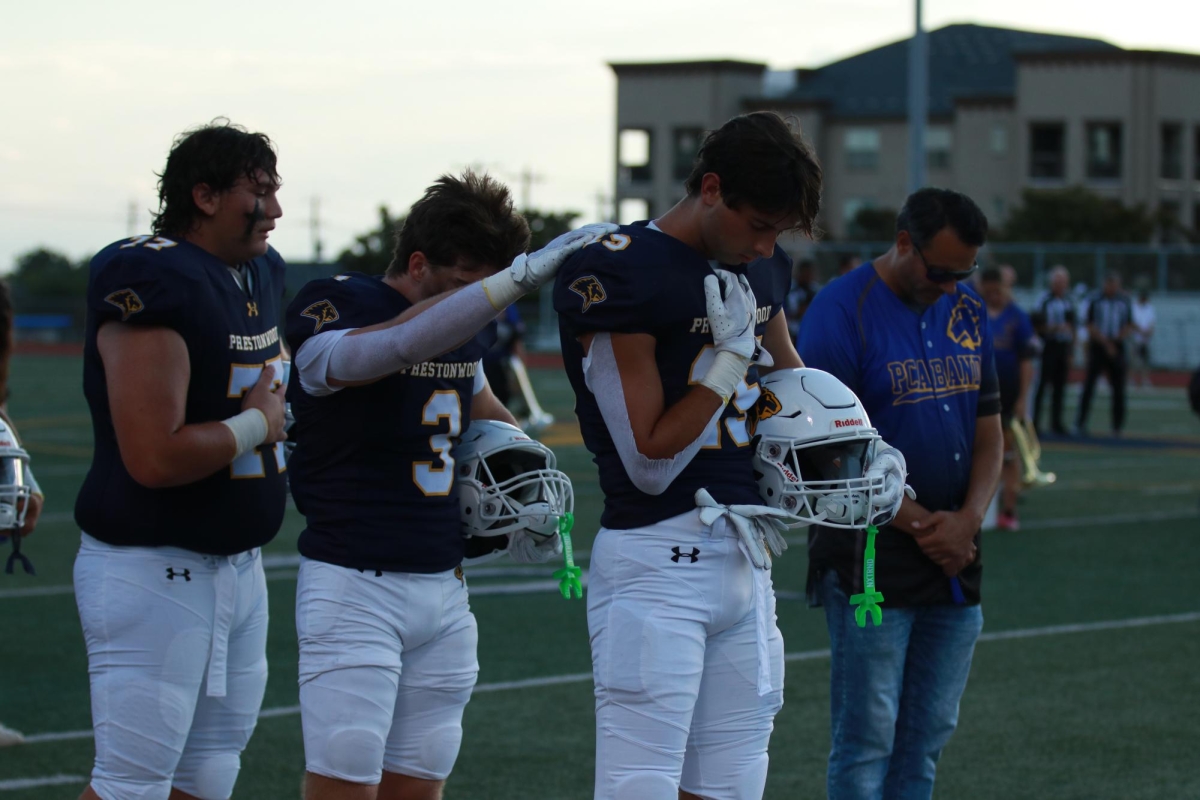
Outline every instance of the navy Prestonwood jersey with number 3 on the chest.
MULTIPOLYGON (((299 353, 317 333, 376 325, 410 306, 380 277, 313 281, 288 306, 288 345, 299 353)), ((481 332, 437 359, 323 397, 292 372, 288 475, 307 523, 301 554, 384 572, 443 572, 462 561, 450 449, 470 425, 476 366, 493 338, 481 332)))

